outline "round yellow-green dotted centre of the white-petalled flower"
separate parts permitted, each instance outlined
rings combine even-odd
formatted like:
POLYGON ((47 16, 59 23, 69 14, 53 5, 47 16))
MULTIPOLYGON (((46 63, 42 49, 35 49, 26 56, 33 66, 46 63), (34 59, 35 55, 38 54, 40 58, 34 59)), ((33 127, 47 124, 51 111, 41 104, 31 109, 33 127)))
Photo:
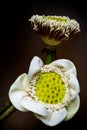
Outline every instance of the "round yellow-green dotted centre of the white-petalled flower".
POLYGON ((41 73, 36 83, 36 95, 46 104, 61 103, 66 93, 66 87, 61 76, 55 72, 41 73))

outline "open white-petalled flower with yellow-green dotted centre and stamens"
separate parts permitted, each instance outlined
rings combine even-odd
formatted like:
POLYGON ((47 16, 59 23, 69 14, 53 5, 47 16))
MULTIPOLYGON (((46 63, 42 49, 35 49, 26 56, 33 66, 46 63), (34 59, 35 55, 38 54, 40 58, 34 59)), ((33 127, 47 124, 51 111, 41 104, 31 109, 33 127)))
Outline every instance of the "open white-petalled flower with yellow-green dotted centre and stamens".
POLYGON ((20 111, 31 111, 48 126, 71 119, 80 106, 80 86, 75 65, 59 59, 44 65, 35 56, 28 74, 20 75, 11 85, 9 98, 20 111))

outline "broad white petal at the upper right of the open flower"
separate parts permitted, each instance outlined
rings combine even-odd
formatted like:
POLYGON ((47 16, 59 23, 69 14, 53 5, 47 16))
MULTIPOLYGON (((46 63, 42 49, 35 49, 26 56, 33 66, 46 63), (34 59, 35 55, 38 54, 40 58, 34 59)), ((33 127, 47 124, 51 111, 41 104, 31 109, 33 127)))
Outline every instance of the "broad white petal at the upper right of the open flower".
POLYGON ((70 61, 68 59, 55 60, 51 63, 51 65, 63 66, 66 69, 66 73, 73 73, 73 74, 77 75, 75 65, 73 64, 72 61, 70 61))

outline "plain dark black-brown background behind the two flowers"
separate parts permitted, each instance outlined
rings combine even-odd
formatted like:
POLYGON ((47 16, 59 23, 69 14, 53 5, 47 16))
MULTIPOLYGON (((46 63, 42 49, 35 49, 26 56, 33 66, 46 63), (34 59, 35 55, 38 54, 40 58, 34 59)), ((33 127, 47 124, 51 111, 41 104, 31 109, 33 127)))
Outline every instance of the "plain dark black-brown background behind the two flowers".
MULTIPOLYGON (((33 31, 28 19, 32 15, 65 15, 80 23, 81 31, 57 47, 57 58, 72 60, 77 68, 80 82, 81 104, 74 118, 61 122, 51 130, 87 128, 87 16, 84 0, 63 1, 3 1, 1 4, 0 29, 0 107, 8 99, 10 85, 22 73, 27 73, 29 63, 37 55, 45 62, 41 53, 44 44, 33 31)), ((3 130, 49 129, 31 112, 16 111, 0 124, 3 130)))

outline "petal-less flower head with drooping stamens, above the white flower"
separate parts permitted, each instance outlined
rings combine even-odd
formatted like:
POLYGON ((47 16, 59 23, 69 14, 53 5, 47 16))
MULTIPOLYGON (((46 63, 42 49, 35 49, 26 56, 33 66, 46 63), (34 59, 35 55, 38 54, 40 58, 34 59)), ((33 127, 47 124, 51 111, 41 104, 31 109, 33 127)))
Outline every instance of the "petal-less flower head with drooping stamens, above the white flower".
POLYGON ((68 40, 80 31, 79 23, 66 16, 33 15, 29 21, 43 42, 51 47, 68 40))

